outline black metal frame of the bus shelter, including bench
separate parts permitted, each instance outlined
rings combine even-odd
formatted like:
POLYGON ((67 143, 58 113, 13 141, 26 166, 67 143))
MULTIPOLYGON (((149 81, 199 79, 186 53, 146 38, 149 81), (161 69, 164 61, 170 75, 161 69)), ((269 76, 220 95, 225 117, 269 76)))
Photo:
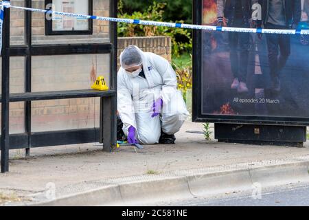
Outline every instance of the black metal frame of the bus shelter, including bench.
MULTIPOLYGON (((117 17, 117 0, 110 0, 110 17, 117 17)), ((32 1, 25 0, 32 8, 32 1)), ((109 43, 32 45, 32 12, 25 11, 25 45, 10 45, 10 8, 4 9, 1 94, 1 173, 9 171, 9 151, 65 144, 103 143, 104 151, 117 144, 117 23, 109 23, 109 43), (110 88, 73 91, 32 92, 32 56, 110 54, 110 88), (25 93, 10 94, 10 57, 25 57, 25 93), (34 133, 31 102, 68 98, 100 97, 100 129, 75 129, 34 133), (25 102, 25 133, 10 135, 10 102, 25 102)))

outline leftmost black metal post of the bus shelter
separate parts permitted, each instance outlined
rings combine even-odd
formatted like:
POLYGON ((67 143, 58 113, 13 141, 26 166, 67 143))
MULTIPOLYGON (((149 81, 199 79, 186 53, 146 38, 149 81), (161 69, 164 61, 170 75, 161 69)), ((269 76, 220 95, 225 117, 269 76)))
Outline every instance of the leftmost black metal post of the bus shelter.
POLYGON ((9 171, 10 8, 4 8, 2 36, 1 173, 9 171))

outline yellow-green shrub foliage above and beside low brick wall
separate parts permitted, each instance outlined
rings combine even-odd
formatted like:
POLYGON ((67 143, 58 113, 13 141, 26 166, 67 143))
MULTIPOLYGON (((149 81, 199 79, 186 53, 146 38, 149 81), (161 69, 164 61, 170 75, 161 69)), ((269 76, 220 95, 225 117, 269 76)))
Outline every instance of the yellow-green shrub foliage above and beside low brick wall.
MULTIPOLYGON (((163 14, 165 14, 165 7, 167 3, 153 1, 152 5, 150 5, 148 8, 142 11, 135 11, 132 14, 126 12, 124 5, 124 1, 120 0, 118 4, 119 18, 165 21, 163 20, 163 14)), ((128 5, 126 5, 126 7, 128 7, 128 5)), ((175 22, 182 23, 183 21, 175 22)), ((191 53, 192 51, 191 31, 181 28, 118 23, 118 36, 170 36, 172 39, 173 56, 179 56, 183 52, 191 53)))

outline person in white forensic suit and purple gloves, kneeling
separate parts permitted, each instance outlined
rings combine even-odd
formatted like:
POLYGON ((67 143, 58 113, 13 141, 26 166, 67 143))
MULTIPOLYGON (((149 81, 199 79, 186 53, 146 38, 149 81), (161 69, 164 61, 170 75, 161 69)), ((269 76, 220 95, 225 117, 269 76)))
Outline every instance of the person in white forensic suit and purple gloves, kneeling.
POLYGON ((130 144, 174 144, 189 112, 163 57, 130 45, 120 55, 117 111, 130 144))

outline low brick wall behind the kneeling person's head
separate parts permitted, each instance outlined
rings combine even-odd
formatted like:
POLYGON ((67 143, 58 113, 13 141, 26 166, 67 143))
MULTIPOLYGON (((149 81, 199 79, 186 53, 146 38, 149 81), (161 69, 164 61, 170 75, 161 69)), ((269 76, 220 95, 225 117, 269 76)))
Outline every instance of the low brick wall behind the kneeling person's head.
POLYGON ((168 61, 172 61, 172 41, 167 36, 151 37, 119 37, 118 38, 118 69, 119 56, 129 45, 136 45, 144 52, 152 52, 160 55, 168 61))

